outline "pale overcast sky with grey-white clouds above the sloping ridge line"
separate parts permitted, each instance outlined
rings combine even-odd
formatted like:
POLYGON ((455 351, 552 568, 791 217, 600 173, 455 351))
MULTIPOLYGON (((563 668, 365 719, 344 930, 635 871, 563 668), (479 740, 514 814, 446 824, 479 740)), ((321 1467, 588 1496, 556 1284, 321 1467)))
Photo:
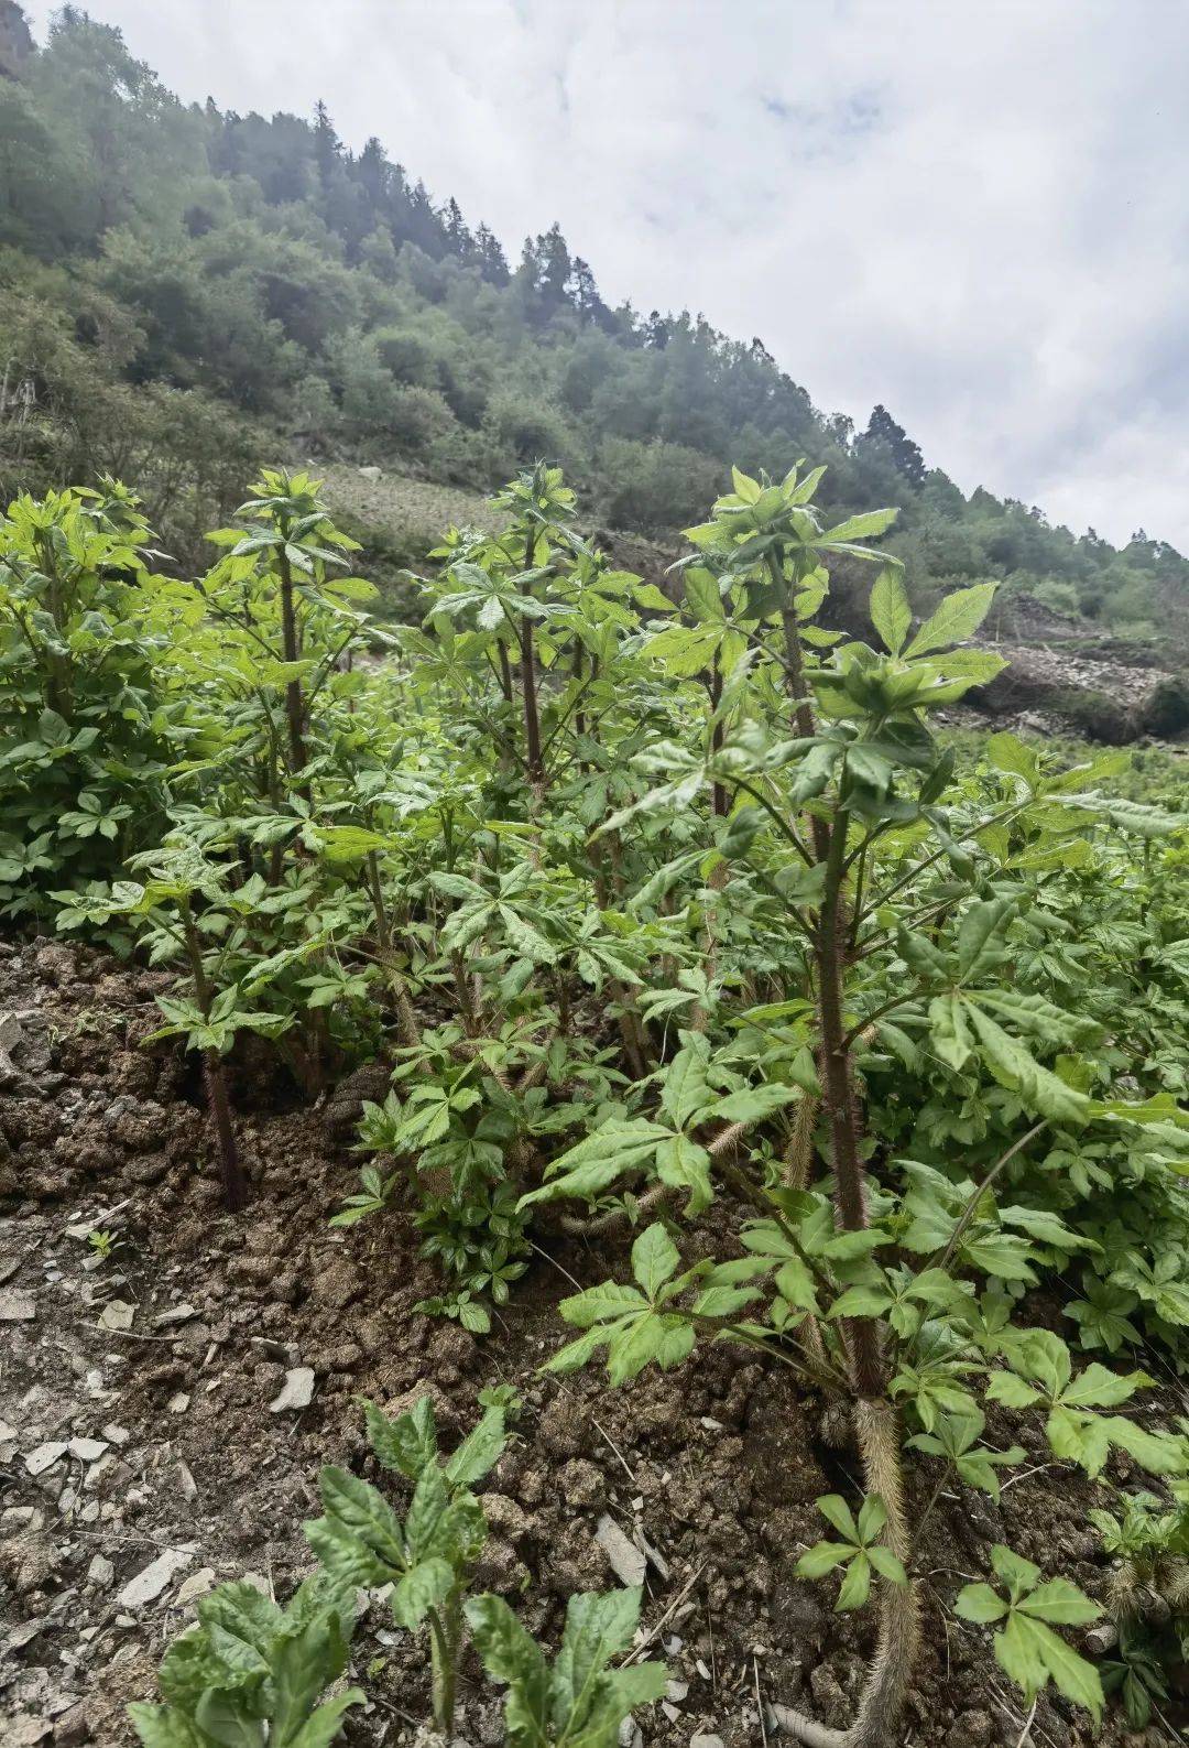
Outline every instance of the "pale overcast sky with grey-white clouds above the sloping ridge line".
POLYGON ((1182 0, 86 5, 185 100, 325 98, 513 260, 559 218, 609 302, 759 336, 967 491, 1189 552, 1182 0))

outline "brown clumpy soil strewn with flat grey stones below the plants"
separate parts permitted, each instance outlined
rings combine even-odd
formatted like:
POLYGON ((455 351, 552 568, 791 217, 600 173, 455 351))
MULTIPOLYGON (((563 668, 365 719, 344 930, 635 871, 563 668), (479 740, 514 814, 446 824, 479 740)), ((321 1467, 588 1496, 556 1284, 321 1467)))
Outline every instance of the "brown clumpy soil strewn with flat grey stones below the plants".
MULTIPOLYGON (((828 1585, 791 1577, 819 1536, 814 1498, 856 1477, 850 1451, 821 1437, 821 1404, 726 1349, 623 1391, 595 1372, 538 1377, 559 1339, 555 1301, 608 1273, 606 1255, 573 1241, 546 1241, 552 1253, 489 1337, 417 1314, 435 1281, 400 1213, 326 1225, 354 1189, 358 1082, 304 1110, 276 1082, 239 1077, 255 1183, 248 1213, 229 1218, 196 1077, 175 1047, 138 1047, 161 986, 58 942, 0 942, 5 1748, 131 1743, 124 1704, 152 1697, 161 1654, 204 1589, 251 1575, 288 1596, 311 1564, 300 1521, 318 1514, 318 1467, 377 1479, 358 1395, 396 1411, 430 1391, 450 1437, 496 1381, 517 1384, 524 1411, 487 1482, 478 1584, 552 1636, 573 1591, 644 1582, 643 1633, 649 1655, 667 1657, 670 1689, 629 1741, 779 1741, 780 1704, 845 1724, 871 1622, 835 1615, 828 1585)), ((730 1234, 707 1227, 697 1245, 721 1248, 730 1234)), ((1023 1741, 985 1629, 948 1612, 960 1584, 985 1575, 988 1543, 1102 1589, 1086 1510, 1105 1489, 1056 1467, 1039 1425, 1021 1442, 1032 1460, 1002 1509, 943 1496, 931 1519, 915 1748, 1023 1741)), ((922 1491, 931 1484, 920 1477, 922 1491)), ((365 1599, 354 1671, 372 1703, 349 1743, 414 1739, 426 1661, 365 1599)), ((459 1734, 478 1748, 501 1727, 475 1675, 459 1734)), ((1044 1748, 1089 1741, 1084 1715, 1048 1699, 1032 1731, 1044 1748)), ((1158 1727, 1128 1734, 1117 1711, 1098 1738, 1166 1739, 1158 1727)))

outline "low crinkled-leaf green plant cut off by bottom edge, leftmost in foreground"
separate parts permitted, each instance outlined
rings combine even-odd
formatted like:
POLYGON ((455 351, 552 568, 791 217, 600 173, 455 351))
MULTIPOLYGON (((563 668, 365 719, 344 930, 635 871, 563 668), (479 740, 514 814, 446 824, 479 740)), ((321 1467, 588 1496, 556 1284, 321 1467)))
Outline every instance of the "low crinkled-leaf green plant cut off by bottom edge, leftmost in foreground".
POLYGON ((251 1584, 220 1584, 197 1626, 173 1641, 157 1682, 164 1704, 131 1704, 145 1748, 326 1748, 363 1692, 325 1690, 347 1666, 354 1598, 307 1578, 286 1608, 251 1584))

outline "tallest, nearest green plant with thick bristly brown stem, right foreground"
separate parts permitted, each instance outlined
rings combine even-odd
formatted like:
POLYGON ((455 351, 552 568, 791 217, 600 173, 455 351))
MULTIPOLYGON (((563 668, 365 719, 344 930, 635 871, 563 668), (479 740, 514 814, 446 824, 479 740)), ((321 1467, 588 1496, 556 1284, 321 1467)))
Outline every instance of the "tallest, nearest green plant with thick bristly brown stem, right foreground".
MULTIPOLYGON (((1069 829, 1082 809, 1116 818, 1126 809, 1103 804, 1082 773, 1048 776, 1011 738, 995 745, 1006 774, 997 802, 971 808, 946 799, 953 760, 932 743, 925 711, 1000 666, 981 650, 950 650, 974 633, 993 587, 957 591, 913 633, 899 573, 885 563, 871 591, 885 652, 819 631, 812 615, 828 587, 822 561, 843 552, 878 559, 859 542, 892 519, 873 512, 822 526, 808 507, 819 477, 793 472, 768 484, 737 474, 735 493, 719 500, 714 519, 690 530, 698 549, 686 570, 695 624, 662 631, 653 647, 677 671, 728 652, 711 697, 711 732, 697 748, 663 745, 641 757, 641 794, 602 830, 641 816, 667 816, 676 827, 702 788, 714 797, 712 813, 718 794, 728 797, 737 822, 723 841, 728 877, 742 865, 784 900, 782 923, 800 937, 801 988, 808 986, 808 1000, 794 984, 782 1003, 756 1007, 742 1021, 753 1017, 765 1075, 782 1091, 770 1108, 794 1099, 791 1084, 800 1084, 798 1103, 821 1098, 829 1176, 821 1187, 810 1182, 812 1150, 796 1133, 786 1173, 740 1173, 730 1157, 719 1162, 723 1182, 763 1215, 744 1232, 751 1257, 681 1273, 676 1245, 651 1227, 632 1250, 636 1287, 606 1283, 564 1302, 562 1316, 585 1334, 552 1363, 569 1369, 606 1348, 611 1377, 622 1383, 649 1360, 681 1363, 700 1332, 718 1332, 766 1344, 852 1397, 868 1491, 861 1528, 845 1543, 814 1550, 810 1568, 849 1561, 847 1603, 859 1601, 871 1568, 880 1570, 878 1647, 850 1731, 822 1731, 798 1715, 789 1715, 789 1727, 810 1743, 868 1748, 896 1731, 918 1640, 903 1412, 910 1428, 913 1421, 920 1428, 911 1433, 918 1449, 924 1439, 927 1454, 945 1456, 957 1474, 966 1465, 974 1484, 992 1489, 993 1458, 1014 1461, 1023 1453, 971 1458, 983 1425, 973 1395, 978 1377, 988 1400, 1020 1409, 1046 1402, 1053 1449, 1089 1472, 1112 1442, 1158 1472, 1177 1468, 1182 1454, 1175 1440, 1098 1412, 1128 1400, 1145 1381, 1140 1374, 1119 1377, 1089 1365, 1074 1377, 1063 1342, 1016 1330, 1007 1299, 976 1301, 962 1280, 971 1271, 999 1283, 1030 1281, 1032 1262, 1046 1250, 1093 1250, 1051 1210, 1011 1196, 1000 1201, 999 1183, 1049 1127, 1062 1138, 1089 1124, 1103 1134, 1112 1126, 1135 1134, 1149 1119, 1126 1099, 1091 1098, 1093 1070, 1081 1063, 1103 1040, 1095 1017, 1060 1007, 1030 979, 1013 988, 1004 977, 1009 935, 1044 939, 1046 909, 1032 871, 1084 864, 1088 846, 1074 846, 1069 829), (910 1068, 927 1049, 959 1086, 969 1086, 978 1065, 995 1089, 988 1106, 1027 1115, 1032 1127, 974 1182, 955 1183, 941 1169, 945 1127, 934 1120, 927 1145, 938 1162, 904 1161, 906 1185, 897 1192, 885 1175, 871 1173, 880 1136, 868 1127, 861 1096, 864 1072, 868 1080, 878 1075, 880 1045, 910 1068), (1049 1066, 1046 1056, 1056 1049, 1065 1054, 1049 1066), (908 1267, 878 1260, 892 1245, 908 1253, 908 1267), (1007 1370, 992 1363, 1000 1355, 1007 1370)), ((1130 823, 1173 829, 1154 815, 1137 813, 1130 823)), ((1172 1110, 1166 1115, 1165 1145, 1182 1157, 1184 1126, 1172 1110)), ((573 1192, 602 1189, 630 1164, 620 1143, 632 1138, 637 1150, 651 1140, 608 1124, 602 1148, 599 1131, 581 1143, 564 1161, 573 1192)), ((712 1192, 707 1164, 704 1157, 702 1204, 712 1192)), ((566 1175, 559 1185, 564 1192, 566 1175)), ((524 1203, 541 1194, 548 1190, 529 1192, 524 1203)), ((849 1526, 845 1502, 843 1510, 836 1523, 849 1526)), ((1014 1556, 1004 1550, 1002 1559, 1014 1556)), ((1020 1575, 1025 1566, 1013 1570, 1020 1575)), ((1013 1610, 1021 1596, 1013 1592, 1013 1610)), ((1009 1648, 1025 1636, 1013 1624, 1009 1648)), ((1037 1685, 1023 1655, 1009 1662, 1025 1685, 1037 1685)))

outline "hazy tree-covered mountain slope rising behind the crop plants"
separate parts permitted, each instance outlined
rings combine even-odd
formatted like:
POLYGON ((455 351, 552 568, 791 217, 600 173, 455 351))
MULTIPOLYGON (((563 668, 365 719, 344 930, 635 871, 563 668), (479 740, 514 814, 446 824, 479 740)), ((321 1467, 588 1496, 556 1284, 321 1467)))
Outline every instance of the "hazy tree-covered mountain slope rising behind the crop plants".
POLYGON ((379 140, 344 150, 321 107, 187 108, 119 31, 66 7, 37 49, 0 0, 0 489, 117 472, 192 565, 211 500, 279 451, 471 493, 548 454, 592 519, 662 538, 732 460, 812 456, 828 509, 903 507, 889 544, 918 605, 997 577, 1004 610, 1035 598, 1184 661, 1170 545, 967 498, 883 407, 863 428, 821 413, 759 339, 608 308, 557 225, 510 266, 379 140))

